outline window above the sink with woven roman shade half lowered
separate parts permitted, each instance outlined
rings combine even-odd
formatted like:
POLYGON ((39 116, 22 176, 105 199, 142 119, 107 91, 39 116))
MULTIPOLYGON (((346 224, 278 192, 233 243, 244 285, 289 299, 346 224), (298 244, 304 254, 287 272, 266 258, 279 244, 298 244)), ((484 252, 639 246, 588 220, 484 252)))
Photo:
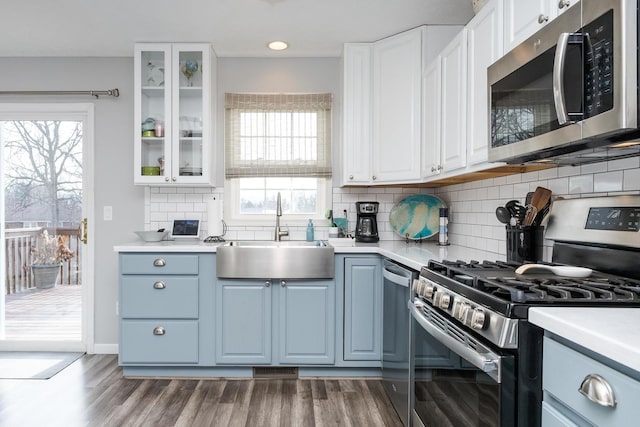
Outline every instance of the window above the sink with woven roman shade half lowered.
POLYGON ((323 218, 331 202, 331 94, 226 94, 225 216, 323 218))

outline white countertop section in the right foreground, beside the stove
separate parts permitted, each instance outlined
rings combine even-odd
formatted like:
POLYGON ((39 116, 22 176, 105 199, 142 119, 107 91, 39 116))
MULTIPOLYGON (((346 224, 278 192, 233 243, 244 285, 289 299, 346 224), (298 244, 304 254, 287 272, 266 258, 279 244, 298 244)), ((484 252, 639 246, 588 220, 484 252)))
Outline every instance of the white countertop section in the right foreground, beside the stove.
POLYGON ((529 321, 640 372, 640 308, 536 307, 529 321))

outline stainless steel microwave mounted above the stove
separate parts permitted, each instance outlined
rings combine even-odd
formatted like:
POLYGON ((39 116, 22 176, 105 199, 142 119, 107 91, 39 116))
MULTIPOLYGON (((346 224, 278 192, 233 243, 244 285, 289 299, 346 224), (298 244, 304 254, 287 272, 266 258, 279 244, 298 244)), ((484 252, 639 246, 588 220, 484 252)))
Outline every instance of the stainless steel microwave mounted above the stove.
POLYGON ((489 67, 489 161, 640 155, 638 3, 581 0, 489 67))

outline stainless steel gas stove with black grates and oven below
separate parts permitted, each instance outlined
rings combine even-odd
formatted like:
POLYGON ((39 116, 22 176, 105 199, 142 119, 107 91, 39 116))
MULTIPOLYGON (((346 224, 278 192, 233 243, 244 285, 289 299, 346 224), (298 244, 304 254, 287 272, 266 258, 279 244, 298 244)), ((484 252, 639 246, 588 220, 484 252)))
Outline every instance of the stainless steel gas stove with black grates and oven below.
POLYGON ((640 196, 556 201, 553 263, 586 278, 507 262, 431 261, 414 281, 412 420, 416 426, 540 426, 543 331, 532 306, 640 307, 640 196), (577 240, 577 239, 581 240, 577 240))

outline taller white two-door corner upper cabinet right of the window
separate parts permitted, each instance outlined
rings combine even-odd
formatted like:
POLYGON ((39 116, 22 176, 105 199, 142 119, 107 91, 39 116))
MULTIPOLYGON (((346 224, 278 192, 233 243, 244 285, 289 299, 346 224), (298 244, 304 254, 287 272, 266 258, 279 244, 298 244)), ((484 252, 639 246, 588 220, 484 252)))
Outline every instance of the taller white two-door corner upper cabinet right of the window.
POLYGON ((343 185, 423 180, 423 69, 460 28, 422 26, 345 44, 343 185))

